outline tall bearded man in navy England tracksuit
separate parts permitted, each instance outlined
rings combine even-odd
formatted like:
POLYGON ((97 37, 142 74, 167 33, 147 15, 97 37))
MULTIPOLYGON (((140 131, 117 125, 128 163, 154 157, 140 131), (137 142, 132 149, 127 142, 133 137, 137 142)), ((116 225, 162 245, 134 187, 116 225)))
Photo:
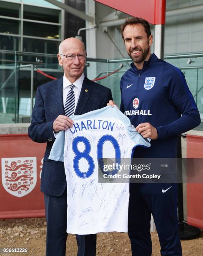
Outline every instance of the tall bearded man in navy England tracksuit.
MULTIPOLYGON (((131 18, 121 27, 133 60, 120 81, 120 110, 136 131, 151 138, 134 158, 176 158, 178 135, 200 124, 200 115, 183 73, 150 54, 149 23, 131 18), (181 116, 182 115, 182 116, 181 116)), ((110 102, 113 106, 114 102, 110 102)), ((150 218, 157 228, 161 255, 182 255, 178 236, 177 184, 130 184, 128 235, 133 256, 150 256, 150 218)))

